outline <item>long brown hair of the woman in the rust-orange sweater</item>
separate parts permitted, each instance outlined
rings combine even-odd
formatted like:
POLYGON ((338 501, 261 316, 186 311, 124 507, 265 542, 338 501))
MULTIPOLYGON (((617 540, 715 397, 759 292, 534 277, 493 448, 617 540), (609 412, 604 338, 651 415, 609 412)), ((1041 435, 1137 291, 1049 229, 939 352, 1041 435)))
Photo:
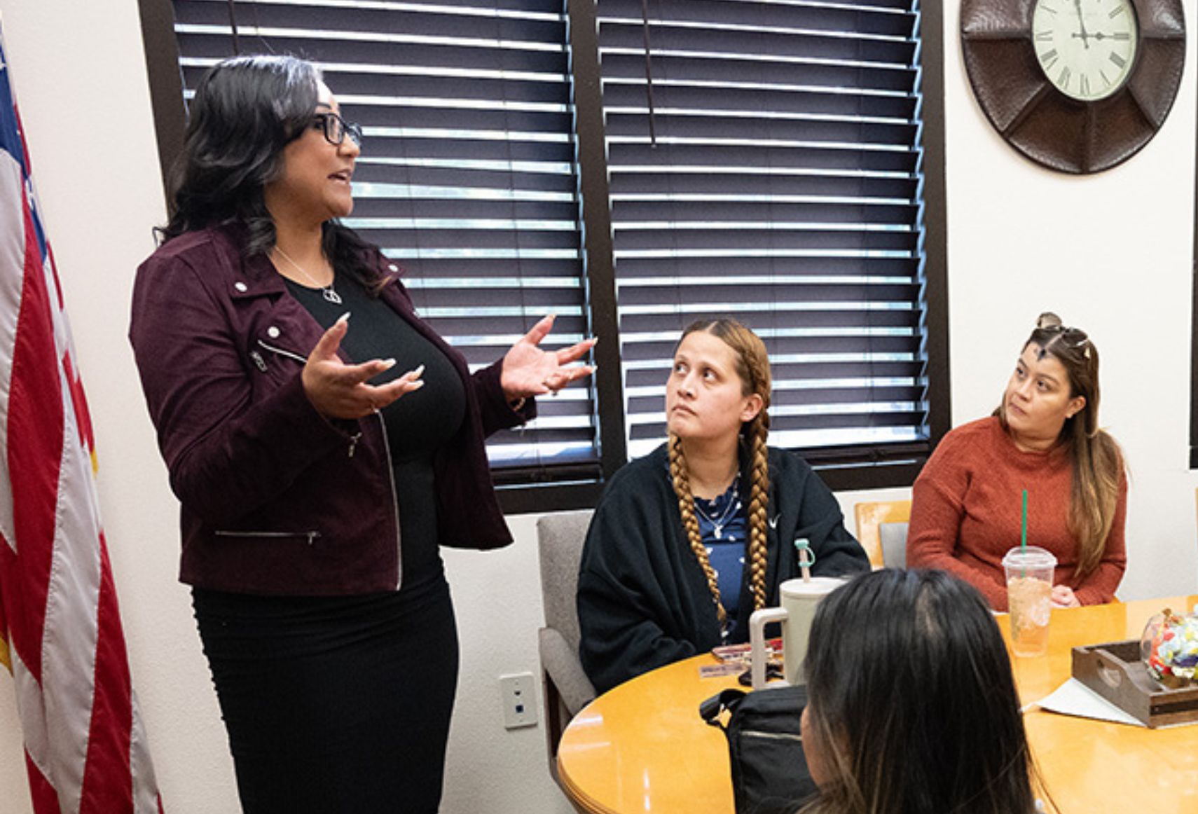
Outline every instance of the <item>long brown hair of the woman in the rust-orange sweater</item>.
MULTIPOLYGON (((1069 444, 1073 464, 1069 530, 1077 540, 1077 576, 1084 577, 1102 559, 1124 473, 1119 444, 1099 427, 1099 348, 1084 330, 1064 326, 1051 311, 1036 320, 1024 350, 1028 345, 1040 346, 1042 356, 1061 364, 1069 375, 1070 397, 1085 399, 1085 406, 1065 419, 1059 436, 1061 443, 1069 444)), ((1006 430, 1005 400, 994 414, 1006 430)))

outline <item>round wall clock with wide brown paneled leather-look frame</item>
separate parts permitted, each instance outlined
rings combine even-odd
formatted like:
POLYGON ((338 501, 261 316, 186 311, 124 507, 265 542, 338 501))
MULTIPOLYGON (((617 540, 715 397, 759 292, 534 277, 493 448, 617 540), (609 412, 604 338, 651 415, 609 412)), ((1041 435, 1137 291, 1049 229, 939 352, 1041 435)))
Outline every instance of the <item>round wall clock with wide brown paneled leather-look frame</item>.
POLYGON ((1063 172, 1125 162, 1164 123, 1181 84, 1181 0, 963 0, 961 47, 978 103, 1031 160, 1063 172))

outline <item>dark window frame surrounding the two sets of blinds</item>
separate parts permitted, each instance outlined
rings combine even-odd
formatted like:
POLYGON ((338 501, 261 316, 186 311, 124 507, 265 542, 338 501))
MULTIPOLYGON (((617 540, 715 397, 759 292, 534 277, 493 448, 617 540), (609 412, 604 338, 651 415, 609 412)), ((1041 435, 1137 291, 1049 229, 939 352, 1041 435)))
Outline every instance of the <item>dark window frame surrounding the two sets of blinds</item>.
MULTIPOLYGON (((158 139, 164 192, 170 168, 182 152, 186 109, 170 0, 138 0, 150 95, 158 139)), ((575 135, 579 160, 580 221, 585 241, 585 274, 589 291, 591 328, 595 347, 597 418, 600 438, 600 479, 580 482, 522 479, 503 482, 500 500, 508 514, 543 512, 594 506, 605 481, 624 464, 623 393, 616 317, 616 280, 611 218, 607 201, 601 85, 594 0, 565 0, 570 22, 571 71, 575 95, 575 135)), ((909 486, 924 461, 951 426, 948 324, 948 247, 944 183, 944 20, 943 0, 920 2, 920 93, 924 151, 924 328, 927 378, 928 441, 900 447, 846 447, 798 450, 834 491, 909 486)), ((1198 237, 1196 237, 1198 267, 1198 237)), ((1198 312, 1198 285, 1194 292, 1198 312)), ((1194 340, 1198 359, 1198 338, 1194 340)), ((1198 382, 1198 362, 1193 381, 1198 382)), ((1198 390, 1194 391, 1198 403, 1198 390)), ((1194 441, 1198 418, 1191 423, 1191 467, 1198 467, 1194 441)), ((527 474, 527 473, 522 473, 527 474)), ((546 473, 552 474, 552 470, 546 473)), ((510 476, 510 475, 509 475, 510 476)))

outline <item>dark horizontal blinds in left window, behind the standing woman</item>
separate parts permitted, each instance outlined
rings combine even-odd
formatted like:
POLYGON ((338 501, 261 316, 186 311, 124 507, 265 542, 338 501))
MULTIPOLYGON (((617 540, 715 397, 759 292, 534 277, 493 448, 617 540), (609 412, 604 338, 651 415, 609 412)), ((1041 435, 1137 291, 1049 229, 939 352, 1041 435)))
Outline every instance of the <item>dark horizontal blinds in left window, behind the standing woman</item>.
MULTIPOLYGON (((565 20, 553 0, 235 2, 241 53, 321 67, 363 126, 345 224, 404 269, 417 311, 472 367, 545 314, 547 346, 589 335, 565 20)), ((184 93, 232 54, 226 0, 175 0, 184 93)), ((492 466, 594 478, 594 397, 573 385, 492 436, 492 466)))

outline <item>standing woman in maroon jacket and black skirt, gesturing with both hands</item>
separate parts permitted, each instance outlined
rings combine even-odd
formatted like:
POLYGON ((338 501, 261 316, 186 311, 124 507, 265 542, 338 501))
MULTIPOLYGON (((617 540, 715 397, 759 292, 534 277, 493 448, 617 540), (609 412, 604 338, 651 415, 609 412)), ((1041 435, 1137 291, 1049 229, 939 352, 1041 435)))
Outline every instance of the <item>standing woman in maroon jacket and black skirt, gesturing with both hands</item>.
POLYGON ((458 675, 438 546, 512 541, 483 439, 589 372, 562 365, 591 341, 537 347, 550 318, 468 372, 337 221, 361 139, 310 63, 218 63, 134 288, 246 812, 437 810, 458 675))

